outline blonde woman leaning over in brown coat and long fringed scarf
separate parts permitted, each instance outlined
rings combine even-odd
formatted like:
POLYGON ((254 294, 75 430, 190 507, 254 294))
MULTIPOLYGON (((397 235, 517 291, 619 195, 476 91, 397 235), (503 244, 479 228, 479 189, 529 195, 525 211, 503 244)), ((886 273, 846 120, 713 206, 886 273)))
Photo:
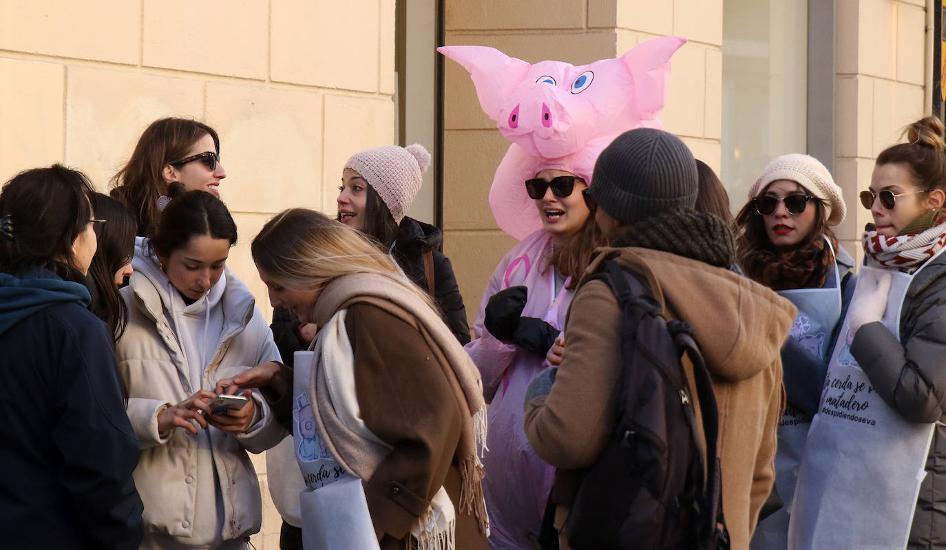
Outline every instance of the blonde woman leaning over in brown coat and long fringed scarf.
POLYGON ((320 327, 314 357, 221 383, 265 386, 285 407, 307 547, 485 548, 482 388, 429 295, 365 235, 311 210, 276 215, 252 250, 272 304, 320 327))

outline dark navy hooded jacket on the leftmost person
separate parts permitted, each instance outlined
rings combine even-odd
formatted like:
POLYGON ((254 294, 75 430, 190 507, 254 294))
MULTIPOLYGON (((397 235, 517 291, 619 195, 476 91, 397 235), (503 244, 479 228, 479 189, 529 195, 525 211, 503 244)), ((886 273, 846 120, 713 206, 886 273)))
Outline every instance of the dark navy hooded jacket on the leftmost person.
POLYGON ((0 273, 0 532, 14 548, 137 548, 135 438, 82 284, 0 273))

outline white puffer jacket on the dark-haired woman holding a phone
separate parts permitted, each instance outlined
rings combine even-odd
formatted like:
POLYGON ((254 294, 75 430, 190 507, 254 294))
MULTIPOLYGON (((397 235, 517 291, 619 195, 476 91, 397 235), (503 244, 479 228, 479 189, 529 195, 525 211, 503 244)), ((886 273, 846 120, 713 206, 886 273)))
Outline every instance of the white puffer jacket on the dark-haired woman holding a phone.
POLYGON ((198 389, 213 391, 221 378, 278 361, 269 326, 229 268, 201 300, 185 305, 144 239, 135 243, 132 266, 131 284, 122 289, 128 327, 116 353, 141 441, 134 481, 146 537, 162 533, 186 546, 213 547, 249 536, 260 528, 262 507, 246 451, 261 453, 286 435, 265 400, 254 392, 256 421, 236 437, 209 425, 197 436, 175 428, 161 437, 157 413, 198 389))

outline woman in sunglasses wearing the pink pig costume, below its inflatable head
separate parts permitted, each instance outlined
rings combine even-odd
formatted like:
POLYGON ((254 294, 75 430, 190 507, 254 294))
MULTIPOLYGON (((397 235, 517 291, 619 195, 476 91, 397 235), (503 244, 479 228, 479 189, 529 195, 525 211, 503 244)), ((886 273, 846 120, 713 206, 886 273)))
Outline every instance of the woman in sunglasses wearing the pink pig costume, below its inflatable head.
POLYGON ((515 208, 492 203, 497 183, 491 192, 500 227, 534 219, 523 231, 528 236, 493 272, 473 326, 476 339, 466 345, 490 403, 483 492, 491 548, 532 547, 552 488, 554 468, 529 445, 522 404, 529 382, 550 365, 547 354, 565 326, 591 251, 604 246, 584 191, 606 145, 588 146, 586 155, 568 163, 529 158, 523 172, 532 177, 516 186, 516 193, 503 191, 515 208), (518 213, 517 219, 510 218, 511 212, 518 213))

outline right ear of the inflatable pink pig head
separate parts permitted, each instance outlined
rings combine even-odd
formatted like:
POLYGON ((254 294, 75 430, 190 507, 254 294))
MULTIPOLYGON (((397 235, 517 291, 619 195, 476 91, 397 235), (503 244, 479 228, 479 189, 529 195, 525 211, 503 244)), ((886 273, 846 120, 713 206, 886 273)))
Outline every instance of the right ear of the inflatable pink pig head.
POLYGON ((622 56, 634 78, 640 120, 654 120, 663 110, 670 82, 670 58, 686 39, 661 36, 639 44, 622 56))

